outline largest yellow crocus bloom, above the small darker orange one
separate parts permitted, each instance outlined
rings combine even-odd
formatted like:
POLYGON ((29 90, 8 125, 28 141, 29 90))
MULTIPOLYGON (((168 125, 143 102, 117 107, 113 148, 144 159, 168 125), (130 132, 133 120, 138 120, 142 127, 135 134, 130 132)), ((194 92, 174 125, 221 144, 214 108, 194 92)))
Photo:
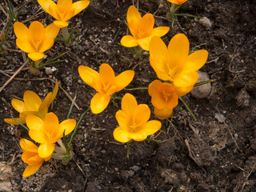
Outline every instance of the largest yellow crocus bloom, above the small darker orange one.
POLYGON ((154 37, 150 42, 150 65, 163 81, 174 84, 178 97, 192 90, 198 81, 196 72, 208 58, 207 50, 197 50, 189 54, 190 42, 185 34, 171 38, 168 48, 161 38, 154 37))

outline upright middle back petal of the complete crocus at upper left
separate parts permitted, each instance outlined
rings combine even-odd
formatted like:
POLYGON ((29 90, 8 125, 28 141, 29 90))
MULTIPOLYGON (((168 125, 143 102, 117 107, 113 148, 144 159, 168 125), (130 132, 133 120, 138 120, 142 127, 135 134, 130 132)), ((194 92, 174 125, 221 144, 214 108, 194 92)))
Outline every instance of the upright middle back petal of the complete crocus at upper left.
POLYGON ((45 38, 45 27, 42 25, 41 22, 35 21, 31 22, 28 35, 30 41, 32 42, 42 42, 45 38))

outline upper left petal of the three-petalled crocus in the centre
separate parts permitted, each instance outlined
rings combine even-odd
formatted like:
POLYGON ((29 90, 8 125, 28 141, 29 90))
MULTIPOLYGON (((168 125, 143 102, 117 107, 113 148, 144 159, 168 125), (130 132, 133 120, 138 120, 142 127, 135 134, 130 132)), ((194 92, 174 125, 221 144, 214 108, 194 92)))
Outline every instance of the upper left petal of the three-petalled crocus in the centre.
POLYGON ((96 70, 91 69, 88 66, 79 66, 78 73, 82 78, 82 81, 86 82, 91 87, 94 87, 93 82, 99 81, 99 80, 96 80, 96 79, 99 79, 98 72, 96 70))

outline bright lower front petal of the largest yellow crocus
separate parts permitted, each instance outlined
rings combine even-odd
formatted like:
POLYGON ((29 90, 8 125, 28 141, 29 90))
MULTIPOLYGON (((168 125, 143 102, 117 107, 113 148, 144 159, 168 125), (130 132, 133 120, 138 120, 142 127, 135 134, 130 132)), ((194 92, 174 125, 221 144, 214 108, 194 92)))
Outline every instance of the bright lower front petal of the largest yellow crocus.
POLYGON ((184 70, 174 78, 174 86, 186 87, 192 86, 198 81, 199 74, 195 71, 184 70))

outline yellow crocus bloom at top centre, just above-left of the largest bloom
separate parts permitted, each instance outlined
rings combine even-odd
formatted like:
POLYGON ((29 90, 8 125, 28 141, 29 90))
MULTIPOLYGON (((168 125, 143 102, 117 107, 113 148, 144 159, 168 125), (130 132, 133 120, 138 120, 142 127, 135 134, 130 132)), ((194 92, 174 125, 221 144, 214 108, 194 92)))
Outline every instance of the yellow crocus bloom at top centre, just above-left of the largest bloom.
POLYGON ((122 46, 141 46, 143 50, 149 50, 152 37, 162 37, 170 30, 168 26, 154 28, 154 16, 145 14, 142 17, 135 6, 130 6, 127 11, 127 23, 132 35, 122 37, 122 46))

